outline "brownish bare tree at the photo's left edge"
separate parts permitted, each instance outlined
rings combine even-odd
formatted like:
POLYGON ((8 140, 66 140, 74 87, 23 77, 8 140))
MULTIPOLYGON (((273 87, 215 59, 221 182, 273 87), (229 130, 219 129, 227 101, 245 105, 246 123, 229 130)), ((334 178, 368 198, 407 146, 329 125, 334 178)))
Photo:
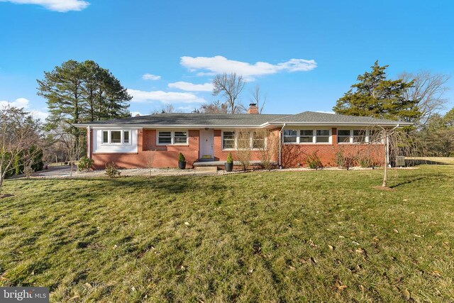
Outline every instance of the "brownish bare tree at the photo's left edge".
POLYGON ((40 152, 37 148, 40 145, 40 123, 23 109, 10 106, 0 109, 0 144, 1 189, 16 158, 26 160, 24 167, 33 165, 34 153, 40 152))

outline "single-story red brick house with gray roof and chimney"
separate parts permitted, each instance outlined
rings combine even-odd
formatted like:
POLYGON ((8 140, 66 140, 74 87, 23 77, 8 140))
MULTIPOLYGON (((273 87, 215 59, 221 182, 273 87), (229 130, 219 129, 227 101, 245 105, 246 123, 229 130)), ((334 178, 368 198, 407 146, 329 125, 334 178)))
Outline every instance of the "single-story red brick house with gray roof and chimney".
POLYGON ((250 132, 250 158, 260 162, 260 148, 270 138, 257 138, 260 130, 279 138, 274 160, 282 167, 306 165, 308 155, 319 157, 323 166, 336 166, 340 150, 367 153, 382 163, 383 141, 372 142, 371 126, 394 128, 399 121, 304 111, 300 114, 258 114, 250 104, 247 114, 152 114, 110 121, 79 123, 87 128, 87 154, 96 169, 107 162, 118 167, 177 167, 183 153, 189 167, 201 160, 221 166, 228 153, 236 159, 238 133, 250 132))

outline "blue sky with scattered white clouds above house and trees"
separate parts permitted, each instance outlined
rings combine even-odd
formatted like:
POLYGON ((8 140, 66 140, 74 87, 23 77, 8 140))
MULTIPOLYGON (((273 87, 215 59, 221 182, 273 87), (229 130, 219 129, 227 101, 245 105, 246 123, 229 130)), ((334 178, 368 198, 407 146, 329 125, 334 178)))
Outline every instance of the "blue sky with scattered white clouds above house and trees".
MULTIPOLYGON (((265 113, 331 111, 375 60, 390 77, 453 75, 453 13, 453 1, 0 0, 0 102, 43 117, 36 79, 89 59, 141 114, 214 101, 212 75, 231 71, 248 79, 244 104, 260 84, 265 113)), ((451 108, 454 79, 448 86, 451 108)))

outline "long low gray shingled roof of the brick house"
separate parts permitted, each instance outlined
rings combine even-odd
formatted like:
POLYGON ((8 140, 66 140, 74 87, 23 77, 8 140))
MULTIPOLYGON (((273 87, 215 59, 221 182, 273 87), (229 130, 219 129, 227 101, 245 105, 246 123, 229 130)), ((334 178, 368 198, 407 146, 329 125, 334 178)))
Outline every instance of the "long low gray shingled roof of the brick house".
MULTIPOLYGON (((265 124, 382 124, 396 125, 398 121, 372 117, 344 116, 304 111, 300 114, 153 114, 109 121, 79 123, 77 126, 263 126, 265 124)), ((408 124, 408 123, 401 123, 408 124)))

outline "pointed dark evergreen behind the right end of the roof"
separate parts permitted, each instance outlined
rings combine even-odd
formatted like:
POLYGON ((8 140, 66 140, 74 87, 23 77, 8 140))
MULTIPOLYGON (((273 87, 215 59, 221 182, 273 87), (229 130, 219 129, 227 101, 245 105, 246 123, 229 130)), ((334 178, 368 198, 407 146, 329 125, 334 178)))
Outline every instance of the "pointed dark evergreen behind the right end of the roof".
POLYGON ((404 97, 404 92, 413 82, 387 79, 385 72, 387 67, 388 65, 380 66, 378 61, 375 61, 372 71, 358 76, 358 83, 353 84, 351 89, 338 99, 333 111, 336 114, 399 121, 418 119, 421 116, 417 106, 418 100, 404 97))

